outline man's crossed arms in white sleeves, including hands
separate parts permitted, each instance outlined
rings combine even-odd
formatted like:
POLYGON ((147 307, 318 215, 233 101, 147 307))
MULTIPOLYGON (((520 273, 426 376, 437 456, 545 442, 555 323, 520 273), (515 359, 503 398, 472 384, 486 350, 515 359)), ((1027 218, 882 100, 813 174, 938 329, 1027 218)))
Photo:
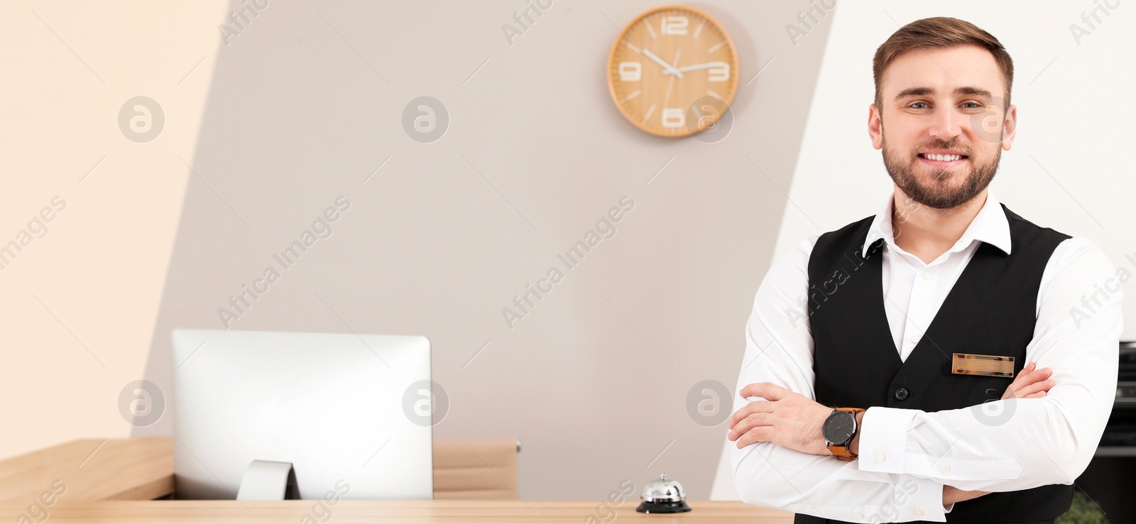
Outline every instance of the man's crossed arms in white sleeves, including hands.
POLYGON ((1070 311, 1116 276, 1100 250, 1075 238, 1054 252, 1026 349, 1042 369, 1019 373, 1003 399, 979 407, 1010 416, 988 424, 974 408, 871 407, 853 447, 862 457, 846 463, 829 456, 820 434, 832 407, 813 400, 808 326, 785 314, 807 289, 815 238, 770 269, 746 326, 730 422, 743 500, 844 521, 943 522, 955 501, 1069 484, 1084 471, 1111 411, 1122 323, 1119 290, 1087 319, 1070 311))

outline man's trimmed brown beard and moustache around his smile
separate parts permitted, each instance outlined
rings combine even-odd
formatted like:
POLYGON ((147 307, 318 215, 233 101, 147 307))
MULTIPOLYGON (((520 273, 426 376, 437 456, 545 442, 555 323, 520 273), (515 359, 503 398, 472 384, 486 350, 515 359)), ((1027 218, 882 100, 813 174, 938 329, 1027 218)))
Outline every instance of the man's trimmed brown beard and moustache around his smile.
POLYGON ((883 150, 884 167, 887 168, 887 174, 892 177, 895 186, 913 202, 938 210, 958 208, 978 196, 994 179, 999 161, 1002 159, 1001 147, 994 150, 993 158, 980 159, 975 157, 974 151, 969 147, 961 147, 958 141, 936 140, 912 147, 909 152, 901 152, 891 150, 885 137, 883 150), (970 163, 970 171, 964 172, 952 166, 941 172, 935 172, 934 168, 920 166, 918 153, 921 150, 935 149, 961 151, 967 155, 966 160, 970 163), (928 179, 926 184, 920 181, 919 171, 925 174, 922 178, 928 179), (947 171, 951 172, 947 174, 947 171), (961 184, 951 184, 953 178, 960 176, 966 177, 961 184))

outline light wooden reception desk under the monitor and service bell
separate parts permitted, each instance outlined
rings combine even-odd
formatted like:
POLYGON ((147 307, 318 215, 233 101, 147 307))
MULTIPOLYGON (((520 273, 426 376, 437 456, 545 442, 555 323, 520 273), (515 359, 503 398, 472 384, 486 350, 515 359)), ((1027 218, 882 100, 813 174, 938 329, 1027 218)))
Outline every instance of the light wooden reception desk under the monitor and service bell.
POLYGON ((0 518, 16 523, 793 522, 788 512, 704 500, 677 515, 636 513, 637 499, 613 514, 600 500, 153 500, 173 491, 169 438, 81 439, 0 462, 0 518))

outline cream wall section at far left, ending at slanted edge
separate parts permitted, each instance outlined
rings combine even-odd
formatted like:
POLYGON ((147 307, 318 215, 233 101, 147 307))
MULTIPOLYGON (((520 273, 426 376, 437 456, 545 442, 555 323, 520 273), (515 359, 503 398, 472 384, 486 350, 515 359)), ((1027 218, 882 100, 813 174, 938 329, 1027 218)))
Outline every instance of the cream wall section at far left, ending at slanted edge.
POLYGON ((225 3, 0 2, 0 243, 32 238, 0 270, 0 457, 130 434, 225 3), (148 143, 117 122, 139 95, 148 143))

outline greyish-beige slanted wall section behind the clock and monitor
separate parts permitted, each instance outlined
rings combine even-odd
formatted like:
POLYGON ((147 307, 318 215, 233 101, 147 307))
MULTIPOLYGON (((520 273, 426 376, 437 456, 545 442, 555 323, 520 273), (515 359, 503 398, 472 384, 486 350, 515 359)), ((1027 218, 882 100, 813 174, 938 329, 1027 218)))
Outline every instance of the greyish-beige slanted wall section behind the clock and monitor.
POLYGON ((608 95, 615 25, 654 5, 558 0, 509 45, 520 0, 269 3, 216 60, 145 378, 170 391, 169 330, 224 328, 274 267, 232 329, 429 337, 451 403, 435 438, 519 437, 524 498, 660 471, 707 498, 725 426, 687 394, 736 380, 834 15, 794 44, 808 2, 691 3, 741 58, 734 127, 708 143, 644 134, 608 95), (450 116, 434 143, 402 126, 423 95, 450 116), (282 270, 341 195, 332 235, 282 270), (625 195, 618 233, 510 329, 502 307, 625 195))

